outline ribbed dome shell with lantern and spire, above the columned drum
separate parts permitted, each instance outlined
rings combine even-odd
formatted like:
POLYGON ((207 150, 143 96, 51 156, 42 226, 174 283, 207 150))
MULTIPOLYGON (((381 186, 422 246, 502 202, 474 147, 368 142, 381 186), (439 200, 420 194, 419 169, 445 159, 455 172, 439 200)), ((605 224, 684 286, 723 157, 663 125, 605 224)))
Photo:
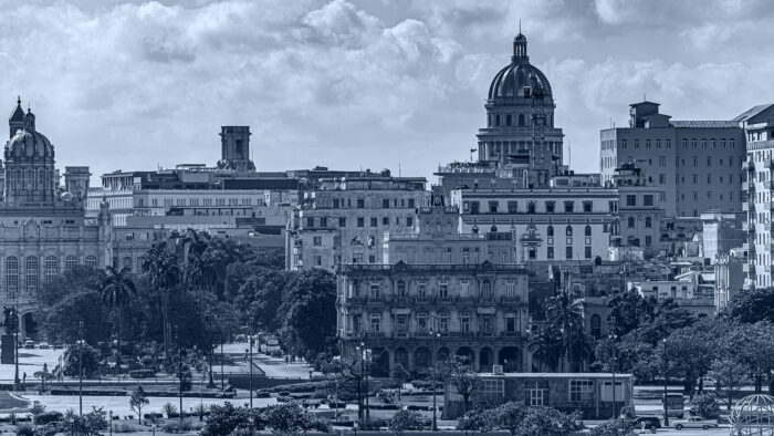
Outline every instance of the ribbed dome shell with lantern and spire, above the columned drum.
POLYGON ((513 56, 492 80, 489 100, 532 98, 551 96, 551 84, 542 71, 530 63, 526 38, 519 32, 513 39, 513 56), (526 90, 525 90, 526 89, 526 90))

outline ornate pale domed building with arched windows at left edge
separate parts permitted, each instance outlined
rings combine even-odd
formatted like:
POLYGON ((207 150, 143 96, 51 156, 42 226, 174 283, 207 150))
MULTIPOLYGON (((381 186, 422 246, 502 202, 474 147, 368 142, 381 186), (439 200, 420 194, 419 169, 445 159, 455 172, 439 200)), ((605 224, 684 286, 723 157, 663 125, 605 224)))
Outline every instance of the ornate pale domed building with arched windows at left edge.
POLYGON ((34 331, 38 290, 76 266, 104 268, 112 261, 109 210, 85 217, 88 167, 66 167, 64 188, 54 146, 38 132, 35 115, 21 107, 8 122, 0 201, 0 300, 17 307, 21 333, 34 331))

